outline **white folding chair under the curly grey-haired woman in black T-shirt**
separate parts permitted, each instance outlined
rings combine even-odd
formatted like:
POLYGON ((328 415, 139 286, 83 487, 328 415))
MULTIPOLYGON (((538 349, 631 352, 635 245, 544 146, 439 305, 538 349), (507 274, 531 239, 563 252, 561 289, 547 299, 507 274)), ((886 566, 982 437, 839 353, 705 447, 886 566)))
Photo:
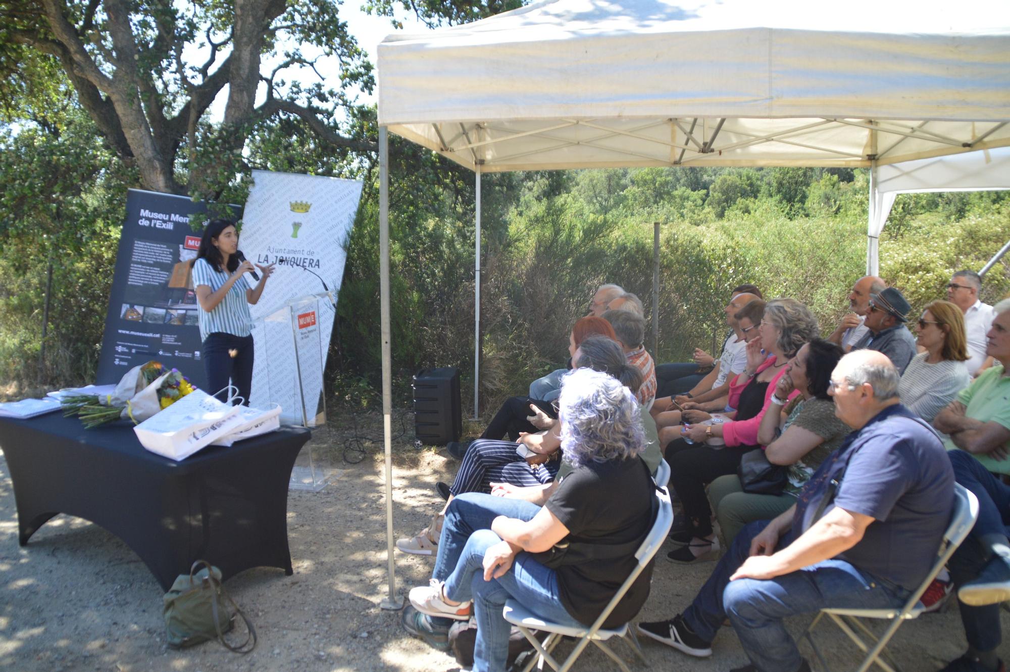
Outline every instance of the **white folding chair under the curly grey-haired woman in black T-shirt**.
MULTIPOLYGON (((661 472, 664 467, 666 467, 667 478, 670 478, 670 467, 667 466, 666 461, 661 462, 660 471, 656 472, 658 483, 660 482, 660 476, 662 475, 661 472)), ((610 603, 607 604, 605 609, 603 609, 603 612, 600 613, 600 616, 596 619, 596 622, 594 622, 592 627, 569 628, 567 626, 546 622, 514 599, 510 599, 505 602, 505 607, 503 609, 505 620, 509 621, 513 626, 516 626, 519 629, 519 632, 521 632, 523 636, 529 640, 530 644, 533 645, 533 648, 535 648, 539 654, 539 656, 530 656, 529 663, 526 665, 523 672, 529 672, 533 669, 533 665, 537 664, 537 662, 541 660, 546 661, 546 663, 554 670, 558 670, 558 672, 567 672, 572 668, 575 661, 578 660, 579 656, 586 649, 586 647, 589 646, 590 642, 595 644, 603 651, 603 653, 607 654, 607 656, 617 663, 618 667, 620 667, 623 672, 630 672, 627 665, 624 664, 624 661, 618 658, 617 654, 611 651, 610 647, 605 644, 605 642, 612 637, 620 638, 625 644, 628 645, 629 648, 631 648, 634 654, 643 663, 645 662, 645 656, 641 652, 641 647, 638 646, 638 640, 635 638, 634 630, 628 628, 627 623, 624 623, 620 628, 614 630, 603 630, 602 626, 603 621, 610 615, 610 612, 614 610, 615 606, 617 606, 617 603, 621 601, 622 597, 624 597, 624 594, 631 587, 631 584, 634 583, 634 580, 638 578, 638 575, 641 574, 642 570, 645 569, 645 566, 648 565, 648 563, 652 560, 652 557, 655 556, 656 551, 660 550, 660 547, 663 546, 663 543, 667 540, 667 535, 670 534, 670 527, 674 523, 674 509, 670 502, 670 492, 666 488, 663 488, 662 491, 658 491, 655 493, 655 496, 660 498, 660 511, 655 516, 655 522, 652 523, 652 529, 649 531, 648 536, 645 538, 645 541, 642 542, 641 546, 638 547, 638 551, 634 554, 635 560, 637 560, 638 563, 635 565, 634 569, 631 570, 631 574, 627 579, 625 579, 624 583, 621 584, 621 587, 618 589, 613 599, 610 600, 610 603), (538 630, 548 633, 548 635, 541 644, 537 641, 536 637, 529 632, 530 630, 538 630), (628 642, 628 635, 630 635, 630 643, 628 642), (561 642, 562 638, 566 636, 579 638, 579 642, 576 644, 575 649, 572 650, 572 653, 569 654, 565 663, 559 664, 558 661, 550 656, 550 652, 553 651, 556 646, 558 646, 558 643, 561 642)))

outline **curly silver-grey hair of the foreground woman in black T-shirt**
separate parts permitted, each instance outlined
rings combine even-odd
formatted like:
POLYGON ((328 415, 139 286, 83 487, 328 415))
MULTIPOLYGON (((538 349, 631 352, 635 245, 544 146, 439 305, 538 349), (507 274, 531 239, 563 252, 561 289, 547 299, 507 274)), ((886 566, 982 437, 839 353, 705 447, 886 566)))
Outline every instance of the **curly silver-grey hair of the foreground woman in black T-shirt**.
POLYGON ((638 402, 605 373, 576 369, 565 376, 558 417, 565 460, 573 467, 629 460, 645 450, 638 402))

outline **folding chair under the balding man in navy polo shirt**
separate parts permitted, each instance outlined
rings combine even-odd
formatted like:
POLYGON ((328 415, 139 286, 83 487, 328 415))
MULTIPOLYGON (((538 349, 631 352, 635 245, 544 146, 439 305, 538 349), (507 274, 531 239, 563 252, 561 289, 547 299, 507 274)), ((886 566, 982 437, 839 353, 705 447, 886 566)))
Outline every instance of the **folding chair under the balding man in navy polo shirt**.
POLYGON ((900 609, 897 607, 890 609, 841 609, 829 607, 820 610, 820 613, 813 619, 813 622, 810 623, 804 635, 810 642, 810 646, 813 647, 814 653, 817 655, 817 659, 820 661, 825 672, 830 672, 830 668, 827 665, 827 661, 821 656, 820 650, 814 643, 812 636, 814 626, 817 625, 817 621, 825 613, 848 636, 848 639, 855 643, 855 646, 867 654, 857 672, 866 672, 874 663, 887 672, 895 672, 895 669, 901 669, 891 655, 887 653, 887 643, 891 641, 891 638, 894 637, 894 634, 898 631, 902 622, 917 618, 925 610, 925 607, 919 602, 919 597, 926 591, 926 588, 936 578, 939 571, 943 569, 947 560, 957 550, 961 543, 965 541, 968 534, 972 532, 972 527, 975 526, 975 520, 978 517, 978 498, 963 486, 954 484, 953 512, 950 515, 950 523, 943 533, 943 540, 940 542, 939 550, 936 552, 936 562, 933 563, 933 567, 929 571, 929 574, 926 575, 922 585, 912 593, 900 609), (891 620, 891 625, 888 626, 884 634, 878 639, 873 631, 863 623, 860 618, 885 618, 891 620), (862 631, 864 635, 875 643, 872 649, 860 639, 860 636, 856 634, 857 630, 862 631), (888 658, 888 662, 881 660, 882 655, 888 658))

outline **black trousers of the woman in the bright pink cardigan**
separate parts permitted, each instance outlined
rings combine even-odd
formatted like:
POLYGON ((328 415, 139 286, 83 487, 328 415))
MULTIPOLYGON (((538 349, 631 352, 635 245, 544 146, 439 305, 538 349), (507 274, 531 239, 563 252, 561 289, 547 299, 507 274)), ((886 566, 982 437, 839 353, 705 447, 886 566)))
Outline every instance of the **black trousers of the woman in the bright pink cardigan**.
POLYGON ((670 483, 681 498, 694 537, 712 534, 712 506, 708 503, 705 486, 728 474, 735 474, 744 453, 753 446, 706 446, 689 444, 683 439, 667 446, 670 483))

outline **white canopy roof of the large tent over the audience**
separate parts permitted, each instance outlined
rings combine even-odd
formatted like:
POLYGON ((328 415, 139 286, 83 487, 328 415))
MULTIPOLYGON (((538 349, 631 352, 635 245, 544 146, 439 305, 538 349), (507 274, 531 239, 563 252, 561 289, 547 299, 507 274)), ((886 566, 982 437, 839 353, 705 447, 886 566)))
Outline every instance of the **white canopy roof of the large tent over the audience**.
POLYGON ((482 172, 1010 145, 1010 3, 993 0, 548 0, 394 33, 378 72, 380 124, 482 172))

